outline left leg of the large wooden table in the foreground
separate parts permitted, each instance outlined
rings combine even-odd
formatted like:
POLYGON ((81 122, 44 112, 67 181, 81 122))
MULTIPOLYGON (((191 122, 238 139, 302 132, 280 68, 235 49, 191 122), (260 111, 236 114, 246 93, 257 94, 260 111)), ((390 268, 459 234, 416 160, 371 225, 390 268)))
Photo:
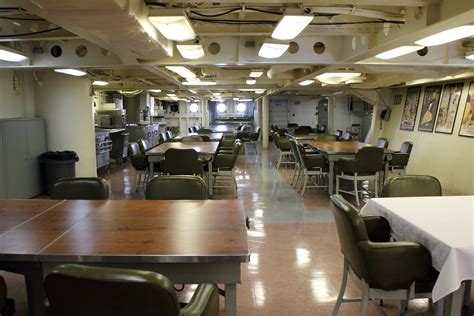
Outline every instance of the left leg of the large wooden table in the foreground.
POLYGON ((28 314, 43 316, 44 298, 46 294, 43 286, 43 273, 38 269, 25 274, 26 293, 28 297, 28 314))

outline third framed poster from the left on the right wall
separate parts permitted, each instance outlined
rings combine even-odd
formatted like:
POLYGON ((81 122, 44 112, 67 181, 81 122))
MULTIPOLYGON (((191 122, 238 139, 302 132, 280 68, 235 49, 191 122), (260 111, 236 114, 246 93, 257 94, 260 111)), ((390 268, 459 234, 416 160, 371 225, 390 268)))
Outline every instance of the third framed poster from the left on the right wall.
POLYGON ((452 134, 454 120, 458 112, 463 83, 452 83, 444 86, 436 118, 436 133, 452 134))

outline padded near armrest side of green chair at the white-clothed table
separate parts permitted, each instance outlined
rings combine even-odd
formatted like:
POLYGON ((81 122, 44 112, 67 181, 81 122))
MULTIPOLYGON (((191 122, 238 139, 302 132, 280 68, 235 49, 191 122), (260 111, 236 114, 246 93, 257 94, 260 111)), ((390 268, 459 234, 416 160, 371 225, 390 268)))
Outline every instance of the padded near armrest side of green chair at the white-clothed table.
POLYGON ((433 278, 431 255, 415 242, 364 241, 358 244, 365 263, 366 281, 383 290, 408 289, 414 281, 433 278))

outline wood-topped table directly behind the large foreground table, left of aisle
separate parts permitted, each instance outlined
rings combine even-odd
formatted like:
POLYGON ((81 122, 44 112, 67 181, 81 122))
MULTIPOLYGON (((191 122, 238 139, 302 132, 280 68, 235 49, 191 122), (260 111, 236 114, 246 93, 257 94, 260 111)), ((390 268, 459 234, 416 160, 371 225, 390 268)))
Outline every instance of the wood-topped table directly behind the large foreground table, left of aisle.
MULTIPOLYGON (((150 179, 153 177, 154 174, 154 162, 159 162, 160 160, 164 159, 165 153, 170 148, 176 149, 194 149, 197 151, 199 157, 204 159, 209 164, 209 170, 212 170, 212 161, 214 159, 214 155, 217 152, 217 147, 219 146, 219 142, 171 142, 171 143, 162 143, 159 146, 156 146, 149 151, 146 152, 148 156, 148 163, 149 163, 149 172, 150 172, 150 179)), ((209 196, 212 197, 212 172, 208 174, 208 189, 209 189, 209 196)))

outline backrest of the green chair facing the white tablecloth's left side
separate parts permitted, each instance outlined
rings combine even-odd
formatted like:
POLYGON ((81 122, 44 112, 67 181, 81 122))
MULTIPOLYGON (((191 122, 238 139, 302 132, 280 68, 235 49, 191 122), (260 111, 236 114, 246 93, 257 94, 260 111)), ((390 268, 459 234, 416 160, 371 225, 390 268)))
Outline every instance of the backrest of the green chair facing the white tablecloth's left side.
POLYGON ((366 275, 366 269, 358 250, 358 243, 369 240, 364 220, 357 209, 341 195, 332 195, 330 199, 341 252, 355 274, 362 278, 366 275))

